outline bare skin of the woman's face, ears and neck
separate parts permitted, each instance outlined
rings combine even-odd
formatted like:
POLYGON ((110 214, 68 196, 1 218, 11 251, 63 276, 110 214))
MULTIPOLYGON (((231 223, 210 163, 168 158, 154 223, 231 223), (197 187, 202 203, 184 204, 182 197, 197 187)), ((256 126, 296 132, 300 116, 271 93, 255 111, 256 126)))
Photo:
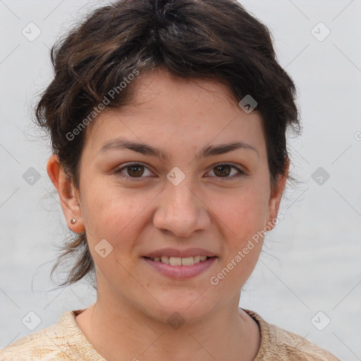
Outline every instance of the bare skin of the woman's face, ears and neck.
POLYGON ((238 304, 262 240, 219 284, 209 279, 279 210, 286 177, 271 190, 262 118, 257 111, 246 114, 215 80, 185 80, 157 69, 134 81, 136 104, 102 111, 87 129, 80 190, 56 156, 47 164, 68 226, 86 230, 97 269, 97 302, 75 320, 107 361, 253 360, 259 329, 238 304), (129 149, 99 152, 117 137, 163 149, 169 159, 129 149), (231 142, 257 152, 195 157, 202 147, 231 142), (137 169, 142 178, 129 168, 116 173, 128 162, 145 166, 137 169), (225 163, 245 175, 234 178, 238 171, 230 168, 222 177, 216 166, 225 163), (175 166, 185 174, 179 185, 166 178, 175 166), (102 239, 113 247, 104 258, 94 250, 102 239), (191 279, 170 279, 141 258, 166 247, 201 247, 218 259, 191 279), (173 312, 185 321, 179 329, 167 322, 173 312))

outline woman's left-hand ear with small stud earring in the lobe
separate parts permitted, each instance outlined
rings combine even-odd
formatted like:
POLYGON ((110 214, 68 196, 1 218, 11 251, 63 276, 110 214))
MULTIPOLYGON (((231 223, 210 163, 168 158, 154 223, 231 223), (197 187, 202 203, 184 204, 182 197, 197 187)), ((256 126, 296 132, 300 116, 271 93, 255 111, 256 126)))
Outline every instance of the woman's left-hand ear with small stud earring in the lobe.
POLYGON ((75 233, 85 231, 78 192, 75 191, 73 181, 66 175, 55 154, 47 162, 47 173, 58 191, 68 227, 75 233), (75 219, 74 224, 71 224, 71 219, 75 219))

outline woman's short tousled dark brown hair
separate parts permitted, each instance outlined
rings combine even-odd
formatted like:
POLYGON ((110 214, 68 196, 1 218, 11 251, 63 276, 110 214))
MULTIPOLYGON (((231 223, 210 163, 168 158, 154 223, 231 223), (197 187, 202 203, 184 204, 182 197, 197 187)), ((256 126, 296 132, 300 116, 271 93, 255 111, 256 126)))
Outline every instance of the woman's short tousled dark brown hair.
MULTIPOLYGON (((110 90, 118 92, 106 106, 130 102, 132 87, 120 84, 131 73, 159 67, 183 78, 224 82, 237 102, 250 94, 262 116, 271 188, 285 174, 286 130, 300 134, 295 85, 276 59, 267 27, 238 1, 116 1, 92 11, 56 42, 51 61, 54 80, 37 104, 36 120, 77 189, 87 129, 76 129, 89 123, 84 120, 109 99, 110 90)), ((76 262, 61 286, 94 271, 85 232, 62 249, 51 275, 66 255, 76 262)))

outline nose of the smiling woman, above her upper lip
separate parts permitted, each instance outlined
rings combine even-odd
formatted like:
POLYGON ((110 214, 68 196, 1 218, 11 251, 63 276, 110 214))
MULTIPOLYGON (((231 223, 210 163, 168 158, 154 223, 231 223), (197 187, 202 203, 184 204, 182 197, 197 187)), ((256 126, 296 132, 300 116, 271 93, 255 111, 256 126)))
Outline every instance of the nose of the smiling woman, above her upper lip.
POLYGON ((205 231, 211 225, 207 201, 190 188, 189 183, 169 183, 157 197, 159 205, 153 225, 177 237, 189 238, 195 231, 205 231))

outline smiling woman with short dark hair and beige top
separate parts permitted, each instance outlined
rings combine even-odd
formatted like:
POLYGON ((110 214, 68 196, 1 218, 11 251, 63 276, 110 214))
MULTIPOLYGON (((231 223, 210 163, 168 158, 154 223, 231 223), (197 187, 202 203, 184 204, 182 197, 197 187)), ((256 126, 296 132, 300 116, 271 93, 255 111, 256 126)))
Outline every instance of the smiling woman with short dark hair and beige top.
POLYGON ((126 0, 52 49, 47 172, 97 302, 1 360, 338 360, 238 307, 279 221, 295 86, 233 0, 126 0))

